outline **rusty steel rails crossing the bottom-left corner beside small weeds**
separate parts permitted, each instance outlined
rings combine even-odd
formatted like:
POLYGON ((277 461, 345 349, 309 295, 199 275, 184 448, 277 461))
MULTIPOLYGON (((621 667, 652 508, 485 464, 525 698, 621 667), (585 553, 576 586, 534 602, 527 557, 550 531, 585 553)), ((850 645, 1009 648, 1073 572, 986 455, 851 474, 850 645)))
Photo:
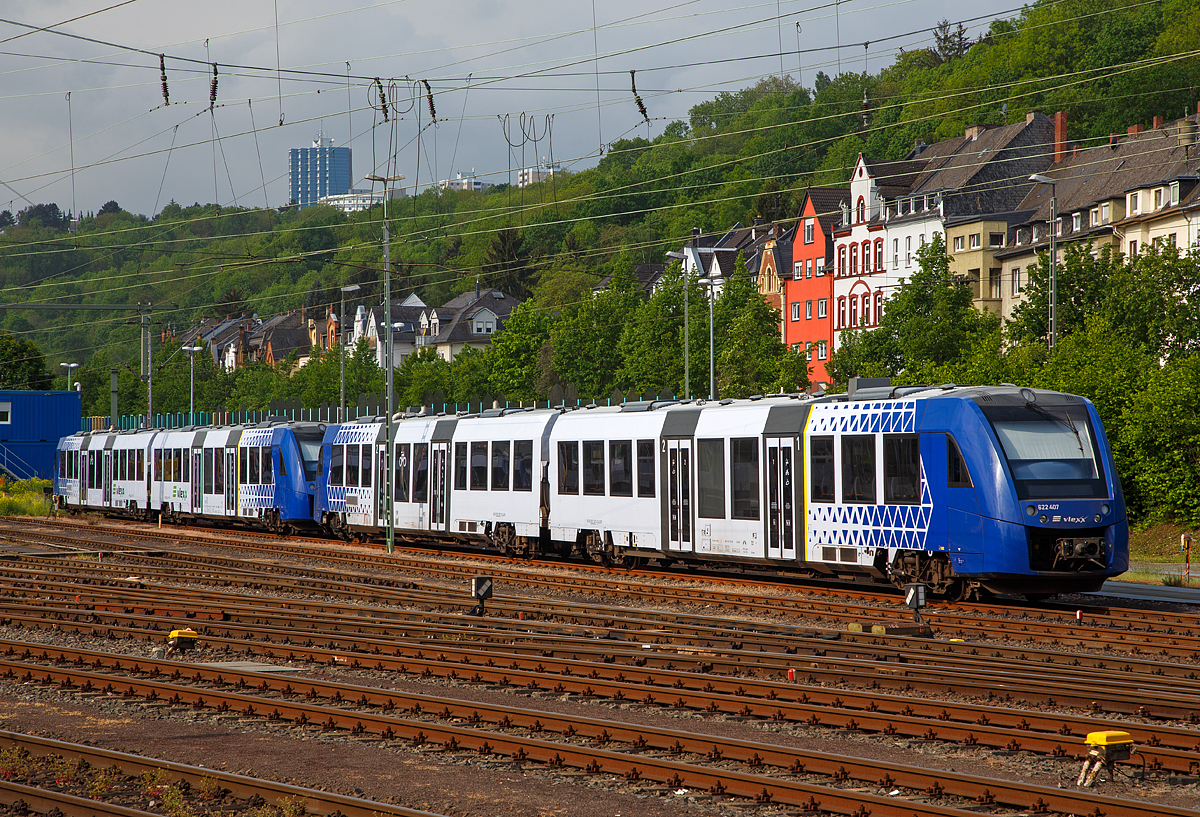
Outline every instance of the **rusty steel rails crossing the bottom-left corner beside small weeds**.
MULTIPOLYGON (((25 749, 30 753, 40 755, 42 757, 58 755, 59 757, 80 758, 88 761, 91 765, 97 768, 116 765, 122 771, 132 774, 144 771, 154 773, 158 769, 163 769, 176 780, 186 780, 193 788, 204 780, 214 780, 223 788, 229 789, 241 798, 250 798, 256 794, 264 797, 264 799, 302 798, 305 813, 308 815, 331 815, 341 812, 346 817, 374 817, 377 815, 394 815, 395 817, 439 817, 433 812, 407 809, 390 803, 379 803, 377 800, 336 794, 334 792, 324 792, 316 788, 280 783, 274 780, 248 777, 246 775, 236 775, 216 769, 187 765, 185 763, 175 763, 173 761, 162 761, 158 758, 142 757, 139 755, 98 749, 96 746, 85 746, 83 744, 67 743, 65 740, 53 740, 50 738, 23 734, 19 732, 0 729, 0 747, 25 749)), ((30 803, 31 797, 44 795, 52 798, 56 794, 54 792, 32 788, 29 786, 18 787, 17 785, 8 782, 0 782, 0 786, 5 788, 12 787, 12 789, 22 789, 19 792, 20 797, 17 799, 24 799, 26 803, 30 803)), ((72 804, 78 807, 73 807, 66 813, 112 813, 128 817, 144 817, 150 813, 156 813, 136 811, 132 809, 121 809, 120 806, 108 806, 108 804, 102 800, 88 800, 83 798, 71 799, 78 801, 72 804), (113 809, 113 811, 104 811, 106 807, 113 809)), ((4 801, 6 804, 11 804, 14 800, 5 799, 4 801)), ((30 805, 34 804, 30 803, 30 805)), ((58 805, 58 807, 61 809, 61 804, 54 805, 58 805)), ((35 806, 35 809, 37 809, 37 806, 35 806)), ((49 811, 49 809, 46 809, 44 811, 49 811)), ((156 815, 156 817, 161 816, 156 815)))

